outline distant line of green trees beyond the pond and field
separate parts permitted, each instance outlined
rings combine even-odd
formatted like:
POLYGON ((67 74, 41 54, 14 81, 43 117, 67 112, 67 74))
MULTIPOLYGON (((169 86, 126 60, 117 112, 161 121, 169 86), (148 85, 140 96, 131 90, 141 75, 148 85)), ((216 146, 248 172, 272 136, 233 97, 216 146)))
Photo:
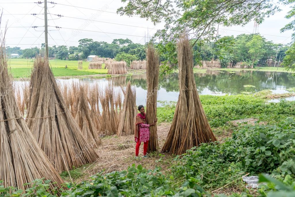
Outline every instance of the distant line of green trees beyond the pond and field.
MULTIPOLYGON (((268 60, 274 60, 277 54, 277 61, 282 61, 285 52, 289 48, 282 44, 267 41, 259 34, 241 34, 236 37, 224 36, 217 38, 214 42, 202 40, 191 40, 194 44, 195 64, 199 60, 219 60, 222 64, 229 62, 245 62, 254 66, 266 66, 268 60), (280 59, 279 59, 280 58, 280 59)), ((160 60, 169 64, 177 64, 175 43, 155 43, 160 53, 160 60)), ((146 45, 133 43, 130 39, 114 39, 112 43, 94 41, 89 38, 79 40, 76 46, 52 46, 49 47, 49 57, 61 60, 86 59, 89 55, 96 55, 106 58, 116 58, 118 61, 124 60, 127 63, 133 60, 145 59, 146 45)), ((7 53, 18 53, 22 58, 33 58, 36 54, 45 50, 44 43, 41 49, 19 47, 7 48, 7 53)))

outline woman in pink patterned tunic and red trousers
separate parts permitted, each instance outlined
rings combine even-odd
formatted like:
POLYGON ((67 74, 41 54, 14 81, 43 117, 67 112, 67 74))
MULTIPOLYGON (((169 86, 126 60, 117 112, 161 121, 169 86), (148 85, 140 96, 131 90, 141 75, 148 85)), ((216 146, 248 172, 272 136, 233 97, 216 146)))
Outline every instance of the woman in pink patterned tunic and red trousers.
POLYGON ((150 139, 149 127, 154 126, 157 120, 155 120, 154 123, 148 125, 146 124, 147 122, 145 119, 145 108, 143 107, 143 105, 138 106, 138 111, 140 111, 140 113, 138 113, 136 116, 135 128, 134 128, 134 138, 136 141, 135 157, 138 157, 139 146, 142 141, 143 141, 143 157, 146 157, 147 149, 148 149, 148 141, 150 139))

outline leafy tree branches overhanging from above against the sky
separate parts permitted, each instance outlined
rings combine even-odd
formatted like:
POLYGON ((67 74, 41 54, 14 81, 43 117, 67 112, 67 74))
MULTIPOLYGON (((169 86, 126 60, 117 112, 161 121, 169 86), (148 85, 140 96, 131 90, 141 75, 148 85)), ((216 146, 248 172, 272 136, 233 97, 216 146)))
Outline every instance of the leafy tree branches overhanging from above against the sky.
POLYGON ((150 19, 155 25, 164 22, 165 28, 158 30, 155 37, 166 40, 166 43, 176 40, 183 31, 193 32, 196 40, 204 35, 212 40, 219 25, 245 25, 252 19, 261 23, 264 17, 279 10, 270 0, 121 1, 127 3, 117 10, 121 15, 138 15, 150 19))

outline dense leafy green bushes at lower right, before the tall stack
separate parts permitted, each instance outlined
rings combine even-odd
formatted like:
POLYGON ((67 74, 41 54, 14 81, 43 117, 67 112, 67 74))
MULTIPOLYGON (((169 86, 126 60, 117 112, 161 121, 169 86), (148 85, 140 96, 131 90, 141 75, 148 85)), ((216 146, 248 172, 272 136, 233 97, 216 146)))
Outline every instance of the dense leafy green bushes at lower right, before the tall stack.
POLYGON ((233 182, 238 185, 244 172, 295 177, 294 135, 292 118, 276 125, 242 126, 222 144, 203 144, 188 150, 182 158, 177 156, 180 161, 173 175, 183 180, 200 178, 200 185, 209 189, 233 182))

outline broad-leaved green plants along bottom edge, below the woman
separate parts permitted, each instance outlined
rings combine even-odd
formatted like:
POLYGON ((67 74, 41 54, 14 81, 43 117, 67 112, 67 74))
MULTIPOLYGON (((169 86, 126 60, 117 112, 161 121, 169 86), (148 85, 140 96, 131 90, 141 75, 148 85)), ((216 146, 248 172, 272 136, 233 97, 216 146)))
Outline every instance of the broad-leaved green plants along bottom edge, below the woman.
MULTIPOLYGON (((173 179, 173 178, 172 178, 173 179)), ((103 175, 103 172, 74 185, 62 196, 202 196, 204 190, 190 178, 180 188, 171 188, 170 178, 166 178, 160 169, 147 170, 141 165, 133 164, 128 170, 114 171, 103 175)))

